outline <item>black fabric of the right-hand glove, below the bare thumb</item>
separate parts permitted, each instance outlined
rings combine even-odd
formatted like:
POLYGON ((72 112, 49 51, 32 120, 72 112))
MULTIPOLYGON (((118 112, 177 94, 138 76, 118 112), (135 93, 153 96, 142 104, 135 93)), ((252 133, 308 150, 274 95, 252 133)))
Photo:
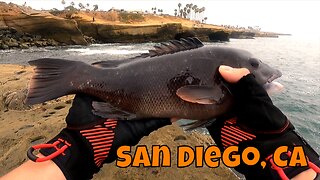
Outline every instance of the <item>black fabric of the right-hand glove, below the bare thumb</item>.
POLYGON ((237 83, 229 84, 229 89, 235 100, 233 109, 235 118, 232 121, 221 118, 207 127, 220 147, 225 148, 230 145, 228 142, 222 142, 223 136, 221 135, 234 129, 234 127, 231 127, 231 129, 229 127, 223 128, 229 124, 233 124, 247 134, 251 134, 248 137, 245 136, 243 141, 256 137, 258 139, 271 139, 294 129, 287 117, 273 105, 267 92, 257 83, 254 75, 248 74, 237 83))

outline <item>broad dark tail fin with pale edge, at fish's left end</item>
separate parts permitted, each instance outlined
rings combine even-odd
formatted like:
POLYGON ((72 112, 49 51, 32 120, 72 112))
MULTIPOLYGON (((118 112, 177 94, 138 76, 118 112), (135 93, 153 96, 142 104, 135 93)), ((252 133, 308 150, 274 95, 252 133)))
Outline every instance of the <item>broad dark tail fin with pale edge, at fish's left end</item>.
POLYGON ((36 67, 25 103, 32 105, 70 94, 75 90, 69 76, 84 63, 44 58, 29 61, 29 64, 36 67))

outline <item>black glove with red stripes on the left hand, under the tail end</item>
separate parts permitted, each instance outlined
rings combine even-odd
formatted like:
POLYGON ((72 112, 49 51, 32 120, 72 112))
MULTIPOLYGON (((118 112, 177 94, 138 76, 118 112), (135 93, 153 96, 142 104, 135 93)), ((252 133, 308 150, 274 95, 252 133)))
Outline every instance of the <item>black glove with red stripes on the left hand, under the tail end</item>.
MULTIPOLYGON (((66 118, 67 127, 48 142, 58 141, 58 148, 67 147, 63 154, 52 159, 67 179, 92 178, 103 163, 116 160, 120 146, 134 146, 143 136, 171 124, 170 119, 102 119, 93 115, 92 100, 76 95, 66 118)), ((55 151, 55 148, 40 150, 45 156, 55 151)))

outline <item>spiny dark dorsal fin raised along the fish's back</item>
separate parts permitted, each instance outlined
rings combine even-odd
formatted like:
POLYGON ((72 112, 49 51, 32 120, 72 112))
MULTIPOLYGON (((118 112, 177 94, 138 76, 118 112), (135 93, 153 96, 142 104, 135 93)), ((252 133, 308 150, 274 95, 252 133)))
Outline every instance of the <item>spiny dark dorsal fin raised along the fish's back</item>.
POLYGON ((186 51, 190 49, 196 49, 202 47, 202 42, 196 37, 188 37, 186 39, 171 40, 166 43, 161 43, 160 45, 154 46, 154 49, 149 50, 149 53, 141 54, 135 58, 146 58, 155 57, 165 54, 173 54, 180 51, 186 51))

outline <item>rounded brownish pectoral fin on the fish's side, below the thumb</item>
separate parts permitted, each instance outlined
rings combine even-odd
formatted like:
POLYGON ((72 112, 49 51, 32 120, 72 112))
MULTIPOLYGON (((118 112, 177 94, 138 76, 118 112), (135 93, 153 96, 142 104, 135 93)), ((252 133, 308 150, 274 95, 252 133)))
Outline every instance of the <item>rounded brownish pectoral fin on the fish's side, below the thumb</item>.
POLYGON ((184 101, 197 104, 219 104, 224 96, 219 87, 199 85, 183 86, 177 90, 176 94, 184 101))

